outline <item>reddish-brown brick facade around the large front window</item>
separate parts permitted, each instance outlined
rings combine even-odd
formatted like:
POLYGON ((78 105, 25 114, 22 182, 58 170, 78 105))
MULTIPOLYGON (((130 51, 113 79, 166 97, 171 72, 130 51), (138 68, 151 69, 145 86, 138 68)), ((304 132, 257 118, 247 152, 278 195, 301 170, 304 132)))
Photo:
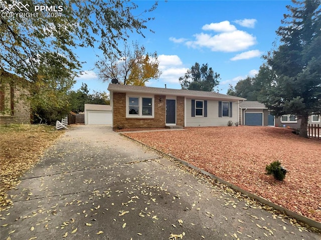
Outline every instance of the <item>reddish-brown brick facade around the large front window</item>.
POLYGON ((114 128, 118 125, 124 128, 165 127, 166 99, 163 95, 154 95, 154 118, 126 118, 126 93, 114 92, 112 104, 114 128))

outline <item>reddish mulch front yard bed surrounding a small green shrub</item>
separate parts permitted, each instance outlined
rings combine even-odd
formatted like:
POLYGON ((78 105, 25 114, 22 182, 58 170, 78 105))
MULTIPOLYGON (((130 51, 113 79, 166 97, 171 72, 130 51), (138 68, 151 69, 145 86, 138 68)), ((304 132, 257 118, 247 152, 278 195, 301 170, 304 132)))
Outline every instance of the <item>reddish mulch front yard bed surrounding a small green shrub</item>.
POLYGON ((321 222, 321 139, 276 127, 186 129, 124 135, 321 222), (265 174, 265 166, 276 160, 288 170, 282 182, 265 174))

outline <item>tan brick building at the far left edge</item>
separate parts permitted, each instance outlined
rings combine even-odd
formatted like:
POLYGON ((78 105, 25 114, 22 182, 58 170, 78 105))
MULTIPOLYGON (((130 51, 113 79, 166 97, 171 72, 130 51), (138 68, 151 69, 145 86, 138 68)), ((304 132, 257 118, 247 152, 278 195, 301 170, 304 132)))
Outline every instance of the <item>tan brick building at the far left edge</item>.
POLYGON ((0 124, 29 124, 29 82, 0 70, 0 124))

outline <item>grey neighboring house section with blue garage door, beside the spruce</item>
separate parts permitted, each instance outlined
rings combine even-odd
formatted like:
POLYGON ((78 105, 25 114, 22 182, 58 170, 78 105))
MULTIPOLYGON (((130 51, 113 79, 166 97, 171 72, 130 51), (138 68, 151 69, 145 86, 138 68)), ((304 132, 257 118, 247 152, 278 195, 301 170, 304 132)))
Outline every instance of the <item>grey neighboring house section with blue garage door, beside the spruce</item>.
POLYGON ((244 101, 239 104, 239 123, 248 126, 275 126, 274 116, 263 103, 244 101))

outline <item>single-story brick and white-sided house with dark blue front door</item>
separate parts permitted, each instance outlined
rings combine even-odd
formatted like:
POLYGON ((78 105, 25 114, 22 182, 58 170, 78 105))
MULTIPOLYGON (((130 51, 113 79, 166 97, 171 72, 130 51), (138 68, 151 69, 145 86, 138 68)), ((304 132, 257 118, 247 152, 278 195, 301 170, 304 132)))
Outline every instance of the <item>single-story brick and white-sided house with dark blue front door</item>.
POLYGON ((109 84, 112 127, 226 126, 244 98, 215 92, 109 84))

